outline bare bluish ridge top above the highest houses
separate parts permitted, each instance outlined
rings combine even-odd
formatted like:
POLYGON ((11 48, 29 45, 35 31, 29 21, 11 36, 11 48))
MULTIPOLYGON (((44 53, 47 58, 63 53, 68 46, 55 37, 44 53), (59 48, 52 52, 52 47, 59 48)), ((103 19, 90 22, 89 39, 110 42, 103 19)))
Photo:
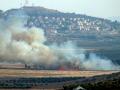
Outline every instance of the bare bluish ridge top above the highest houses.
POLYGON ((5 12, 3 12, 2 10, 0 10, 0 14, 12 14, 15 12, 24 12, 30 16, 34 15, 34 16, 38 16, 38 15, 50 15, 50 16, 64 16, 64 17, 85 17, 85 18, 92 18, 92 19, 101 19, 101 20, 108 20, 105 18, 99 18, 99 17, 93 17, 93 16, 88 16, 88 15, 84 15, 84 14, 76 14, 76 13, 64 13, 64 12, 60 12, 58 10, 54 10, 54 9, 48 9, 48 8, 44 8, 44 7, 40 7, 40 6, 24 6, 21 8, 14 8, 14 9, 9 9, 5 12), (34 12, 34 13, 33 13, 34 12))

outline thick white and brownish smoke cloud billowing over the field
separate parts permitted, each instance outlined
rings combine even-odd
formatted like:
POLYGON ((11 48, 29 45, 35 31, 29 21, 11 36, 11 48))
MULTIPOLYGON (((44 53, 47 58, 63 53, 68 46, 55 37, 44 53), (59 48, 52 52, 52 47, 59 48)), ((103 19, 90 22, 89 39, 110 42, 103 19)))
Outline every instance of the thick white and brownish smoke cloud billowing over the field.
POLYGON ((0 20, 0 63, 39 65, 48 69, 118 70, 111 60, 102 59, 72 42, 46 45, 44 30, 24 27, 25 20, 0 20))

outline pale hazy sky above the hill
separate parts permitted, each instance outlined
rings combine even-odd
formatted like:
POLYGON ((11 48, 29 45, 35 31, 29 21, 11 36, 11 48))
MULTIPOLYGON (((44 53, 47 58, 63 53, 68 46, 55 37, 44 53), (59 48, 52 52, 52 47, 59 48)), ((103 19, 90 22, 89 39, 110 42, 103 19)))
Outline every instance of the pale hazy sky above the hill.
MULTIPOLYGON (((63 12, 76 12, 97 17, 120 16, 120 0, 28 0, 27 5, 43 6, 63 12)), ((19 8, 25 0, 0 0, 0 9, 19 8)))

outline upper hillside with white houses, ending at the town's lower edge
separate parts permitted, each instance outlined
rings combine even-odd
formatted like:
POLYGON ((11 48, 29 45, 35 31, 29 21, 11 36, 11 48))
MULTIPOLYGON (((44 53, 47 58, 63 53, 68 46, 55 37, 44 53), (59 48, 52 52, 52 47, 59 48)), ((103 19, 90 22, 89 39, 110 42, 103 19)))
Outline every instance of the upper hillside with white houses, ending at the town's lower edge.
POLYGON ((48 41, 51 42, 77 41, 79 38, 98 40, 103 37, 110 40, 111 37, 118 37, 120 28, 120 23, 117 21, 75 13, 62 13, 43 7, 22 7, 6 12, 0 11, 0 16, 5 19, 27 16, 25 26, 43 28, 48 41), (53 39, 54 37, 57 38, 53 39))

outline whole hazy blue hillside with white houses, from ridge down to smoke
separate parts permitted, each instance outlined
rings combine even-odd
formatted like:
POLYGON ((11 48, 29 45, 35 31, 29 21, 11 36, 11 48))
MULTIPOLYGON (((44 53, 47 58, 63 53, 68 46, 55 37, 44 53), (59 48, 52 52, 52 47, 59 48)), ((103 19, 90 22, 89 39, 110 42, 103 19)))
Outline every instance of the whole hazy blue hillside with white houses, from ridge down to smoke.
POLYGON ((120 22, 75 13, 63 13, 43 7, 22 7, 0 11, 0 17, 25 18, 25 27, 42 28, 46 44, 72 41, 120 64, 120 22))

